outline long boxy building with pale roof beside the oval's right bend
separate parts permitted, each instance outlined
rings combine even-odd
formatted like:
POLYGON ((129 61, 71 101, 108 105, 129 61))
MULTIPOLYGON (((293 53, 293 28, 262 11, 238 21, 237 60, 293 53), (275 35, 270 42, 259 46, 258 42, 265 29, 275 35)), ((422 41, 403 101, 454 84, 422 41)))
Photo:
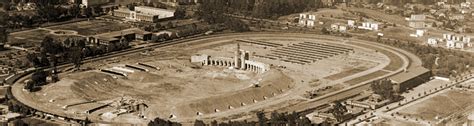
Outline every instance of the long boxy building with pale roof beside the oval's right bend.
POLYGON ((420 84, 423 84, 430 80, 432 74, 431 71, 418 66, 416 68, 405 70, 402 73, 396 74, 390 77, 392 83, 394 83, 394 89, 396 92, 406 92, 420 84))

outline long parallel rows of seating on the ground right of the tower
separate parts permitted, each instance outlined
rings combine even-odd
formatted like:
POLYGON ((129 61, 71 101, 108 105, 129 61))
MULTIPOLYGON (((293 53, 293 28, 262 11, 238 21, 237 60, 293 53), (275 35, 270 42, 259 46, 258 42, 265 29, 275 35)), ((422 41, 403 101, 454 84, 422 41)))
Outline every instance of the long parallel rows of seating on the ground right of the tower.
MULTIPOLYGON (((244 41, 244 40, 241 40, 244 41)), ((250 41, 256 43, 258 41, 250 41)), ((265 42, 261 42, 265 43, 265 42)), ((270 44, 265 44, 270 46, 270 44)), ((279 44, 278 46, 283 46, 279 44)), ((275 47, 278 47, 275 46, 275 47)), ((274 47, 274 46, 272 46, 274 47)), ((302 42, 298 44, 294 44, 287 47, 277 48, 272 50, 271 53, 265 56, 258 56, 262 58, 268 59, 279 59, 284 62, 295 63, 295 64, 310 64, 314 63, 318 60, 322 60, 324 58, 329 58, 333 56, 337 56, 340 54, 346 54, 354 52, 354 49, 345 48, 340 46, 333 46, 328 44, 321 44, 321 43, 313 43, 313 42, 302 42)))

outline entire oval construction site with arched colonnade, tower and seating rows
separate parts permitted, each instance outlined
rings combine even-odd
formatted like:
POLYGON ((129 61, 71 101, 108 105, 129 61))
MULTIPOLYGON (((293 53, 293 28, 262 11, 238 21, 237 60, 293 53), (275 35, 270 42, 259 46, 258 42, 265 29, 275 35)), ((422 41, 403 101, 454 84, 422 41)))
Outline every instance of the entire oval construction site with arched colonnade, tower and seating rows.
POLYGON ((23 85, 17 84, 12 93, 32 108, 93 122, 245 119, 256 110, 287 107, 282 103, 308 104, 308 91, 327 88, 318 96, 332 96, 406 65, 395 61, 406 57, 386 47, 309 36, 231 34, 192 40, 85 63, 82 71, 64 71, 59 82, 38 92, 15 90, 23 85))

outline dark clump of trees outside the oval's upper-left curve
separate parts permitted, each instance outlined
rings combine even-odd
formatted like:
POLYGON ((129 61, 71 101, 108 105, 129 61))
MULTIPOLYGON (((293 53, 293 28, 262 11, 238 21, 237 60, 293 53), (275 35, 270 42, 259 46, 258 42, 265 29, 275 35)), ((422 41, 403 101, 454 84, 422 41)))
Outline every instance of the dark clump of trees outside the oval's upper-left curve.
POLYGON ((67 38, 63 41, 46 36, 41 44, 39 52, 29 53, 26 58, 36 68, 32 74, 31 81, 25 85, 29 91, 38 90, 38 86, 46 84, 46 77, 51 76, 52 82, 59 81, 56 67, 61 63, 71 62, 79 69, 85 57, 102 55, 107 52, 129 48, 127 40, 122 39, 118 44, 86 46, 83 38, 67 38), (44 68, 51 67, 51 71, 44 68))

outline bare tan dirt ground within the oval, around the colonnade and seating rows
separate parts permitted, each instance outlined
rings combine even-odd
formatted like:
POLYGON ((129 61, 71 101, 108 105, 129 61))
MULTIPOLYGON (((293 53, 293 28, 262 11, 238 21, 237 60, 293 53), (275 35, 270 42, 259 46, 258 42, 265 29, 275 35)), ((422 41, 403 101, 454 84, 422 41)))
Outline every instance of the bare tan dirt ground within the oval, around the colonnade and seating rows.
MULTIPOLYGON (((246 38, 247 39, 247 38, 246 38)), ((251 39, 281 43, 288 46, 301 42, 325 43, 353 48, 354 53, 337 55, 314 63, 299 65, 279 60, 255 57, 265 55, 275 48, 240 43, 242 50, 250 51, 250 60, 271 64, 265 73, 235 70, 220 66, 200 66, 189 62, 194 54, 214 57, 233 57, 234 40, 212 38, 200 44, 180 44, 166 49, 155 49, 139 54, 107 59, 84 64, 92 70, 62 75, 60 82, 47 85, 34 94, 34 98, 47 105, 63 107, 75 103, 97 101, 70 106, 64 111, 84 114, 84 111, 103 105, 111 99, 129 96, 144 100, 149 106, 146 117, 196 118, 200 114, 212 114, 258 104, 260 101, 279 98, 282 95, 302 95, 305 90, 333 86, 334 91, 343 89, 343 84, 328 85, 330 81, 360 73, 390 61, 373 49, 352 44, 288 37, 252 37, 251 39), (125 67, 146 63, 159 70, 141 66, 149 71, 139 71, 125 67), (125 68, 127 77, 100 72, 99 69, 125 68), (342 72, 349 74, 342 74, 342 72), (331 79, 326 77, 332 76, 331 79), (317 82, 317 83, 313 83, 317 82), (258 84, 259 87, 255 87, 258 84), (296 93, 293 93, 296 92, 296 93), (61 95, 57 95, 61 94, 61 95), (45 97, 47 96, 47 97, 45 97)), ((196 42, 196 43, 198 43, 196 42)), ((140 66, 140 65, 138 65, 140 66)), ((282 96, 283 97, 283 96, 282 96)), ((113 109, 108 107, 92 113, 92 117, 113 109)), ((112 119, 118 122, 140 121, 133 114, 125 114, 112 119)))

